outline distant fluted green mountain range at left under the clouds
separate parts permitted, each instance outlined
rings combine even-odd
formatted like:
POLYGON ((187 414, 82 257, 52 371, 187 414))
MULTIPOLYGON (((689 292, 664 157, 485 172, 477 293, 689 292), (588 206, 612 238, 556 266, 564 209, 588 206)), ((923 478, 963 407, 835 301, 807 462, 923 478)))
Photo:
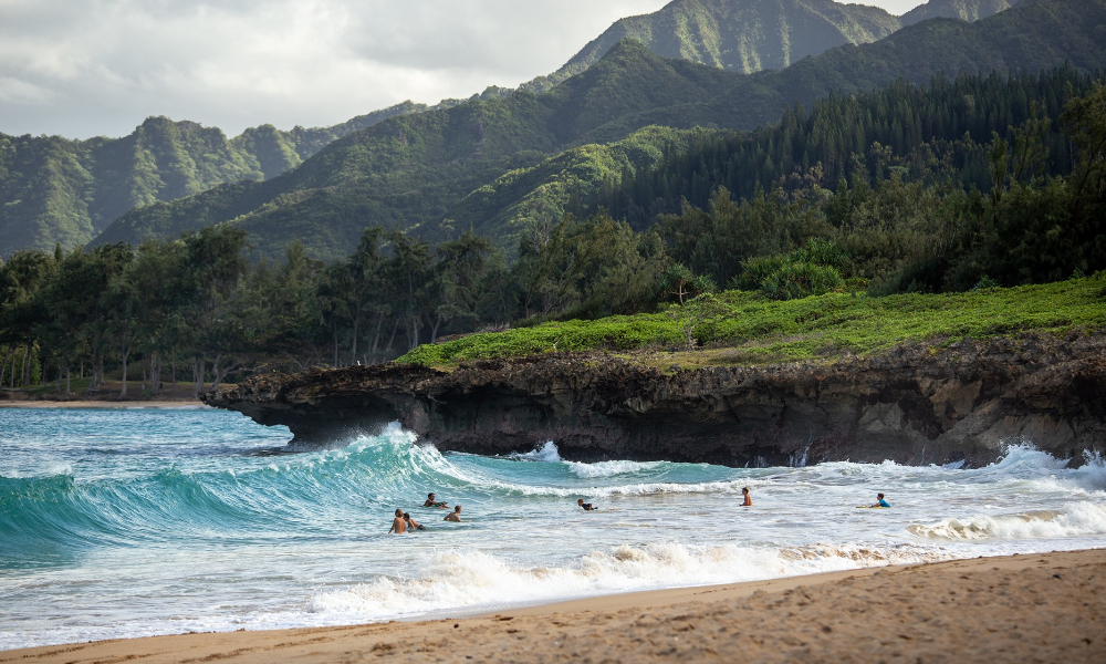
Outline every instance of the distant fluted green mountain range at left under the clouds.
POLYGON ((83 245, 135 207, 274 177, 335 138, 425 110, 407 102, 333 127, 263 125, 232 139, 166 117, 150 117, 123 138, 0 134, 0 256, 83 245))

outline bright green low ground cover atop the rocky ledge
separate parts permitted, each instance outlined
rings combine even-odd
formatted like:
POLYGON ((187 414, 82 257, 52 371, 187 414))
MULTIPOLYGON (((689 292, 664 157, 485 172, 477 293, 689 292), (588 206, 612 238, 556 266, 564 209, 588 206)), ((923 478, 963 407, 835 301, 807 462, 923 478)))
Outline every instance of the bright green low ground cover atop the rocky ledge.
MULTIPOLYGON (((724 320, 701 328, 701 345, 740 350, 740 361, 791 362, 845 353, 866 354, 928 339, 988 338, 1025 331, 1106 326, 1106 276, 967 293, 886 298, 831 293, 773 302, 730 291, 724 320)), ((679 346, 676 322, 665 314, 545 323, 472 334, 419 346, 401 363, 448 365, 466 360, 517 357, 552 351, 634 351, 679 346)))

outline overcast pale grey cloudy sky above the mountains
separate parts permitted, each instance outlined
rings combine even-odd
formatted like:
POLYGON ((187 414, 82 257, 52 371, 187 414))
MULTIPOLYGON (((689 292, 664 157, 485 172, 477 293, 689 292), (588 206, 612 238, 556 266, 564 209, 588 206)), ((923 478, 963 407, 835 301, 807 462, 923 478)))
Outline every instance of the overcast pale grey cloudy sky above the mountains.
MULTIPOLYGON (((668 0, 0 0, 0 132, 332 125, 555 71, 668 0)), ((921 0, 869 0, 902 13, 921 0)))

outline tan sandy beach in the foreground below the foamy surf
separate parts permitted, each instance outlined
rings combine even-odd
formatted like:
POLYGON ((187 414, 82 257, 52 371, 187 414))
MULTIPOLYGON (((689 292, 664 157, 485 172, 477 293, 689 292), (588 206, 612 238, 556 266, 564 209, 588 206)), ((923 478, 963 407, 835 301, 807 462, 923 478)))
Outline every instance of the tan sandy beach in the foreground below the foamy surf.
POLYGON ((495 615, 0 652, 0 663, 1106 662, 1106 550, 629 593, 495 615))

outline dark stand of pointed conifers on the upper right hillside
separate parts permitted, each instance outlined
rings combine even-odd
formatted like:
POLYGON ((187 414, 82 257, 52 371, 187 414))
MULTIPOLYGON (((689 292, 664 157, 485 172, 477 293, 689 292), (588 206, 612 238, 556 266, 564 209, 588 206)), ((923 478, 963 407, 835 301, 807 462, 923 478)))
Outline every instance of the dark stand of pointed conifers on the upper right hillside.
POLYGON ((661 158, 633 164, 598 188, 603 207, 635 228, 678 214, 685 203, 706 208, 719 187, 738 197, 780 188, 875 186, 893 173, 905 183, 991 187, 992 135, 1047 121, 1041 136, 1050 158, 1044 175, 1065 175, 1072 144, 1058 122, 1073 96, 1094 77, 1063 66, 1041 75, 994 73, 938 76, 926 87, 904 81, 867 94, 831 94, 807 113, 795 106, 780 124, 751 133, 711 132, 662 146, 661 158))

